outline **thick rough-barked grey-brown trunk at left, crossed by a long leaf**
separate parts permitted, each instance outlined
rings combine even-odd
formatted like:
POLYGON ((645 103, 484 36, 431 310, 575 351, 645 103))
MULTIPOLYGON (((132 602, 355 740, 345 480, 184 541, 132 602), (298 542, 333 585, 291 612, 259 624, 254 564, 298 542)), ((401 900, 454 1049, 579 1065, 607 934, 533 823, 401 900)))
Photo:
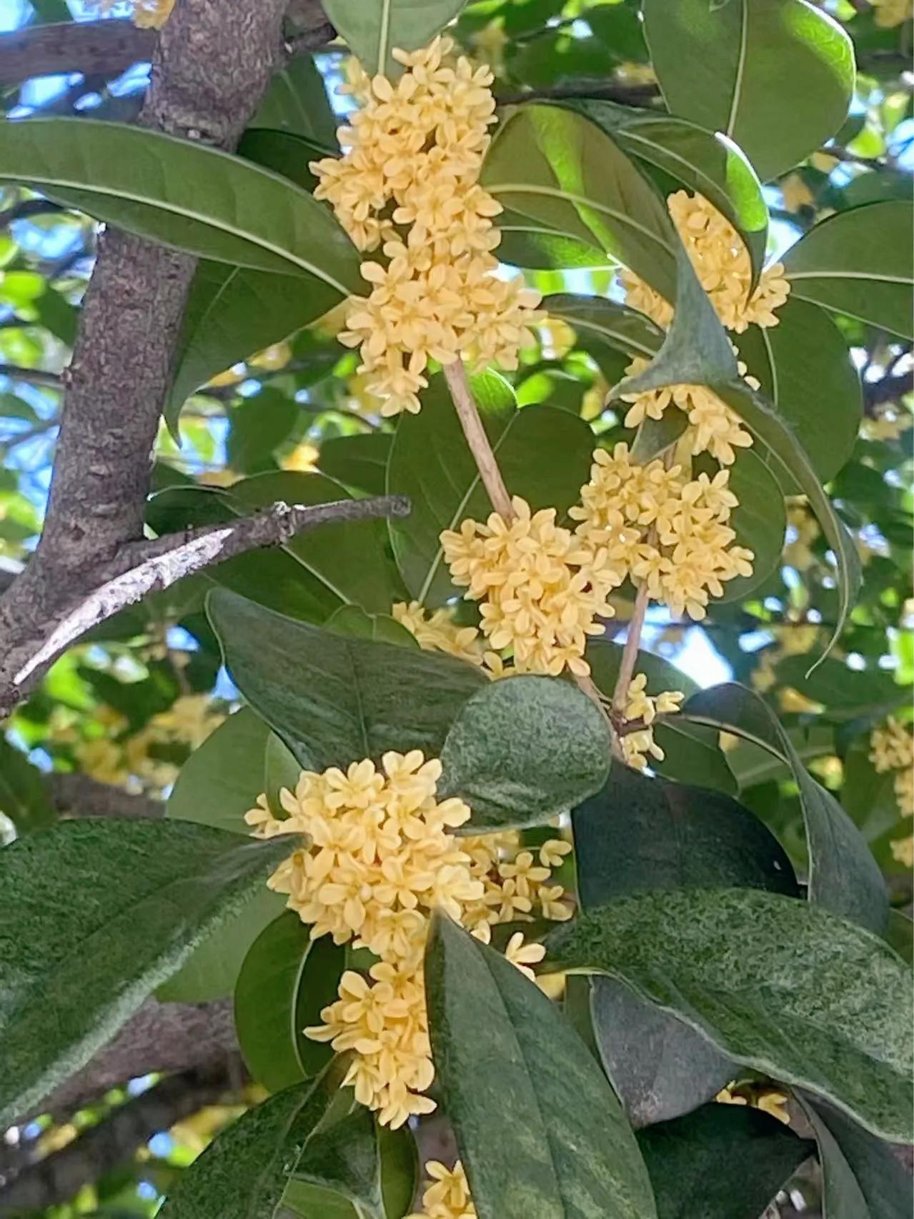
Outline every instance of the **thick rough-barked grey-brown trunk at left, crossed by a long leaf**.
MULTIPOLYGON (((284 59, 285 9, 286 0, 182 0, 157 43, 139 121, 233 149, 284 59)), ((143 538, 150 453, 195 266, 117 229, 99 240, 63 377, 44 533, 0 600, 1 707, 27 692, 17 674, 39 674, 49 639, 112 564, 123 574, 124 550, 143 538)))

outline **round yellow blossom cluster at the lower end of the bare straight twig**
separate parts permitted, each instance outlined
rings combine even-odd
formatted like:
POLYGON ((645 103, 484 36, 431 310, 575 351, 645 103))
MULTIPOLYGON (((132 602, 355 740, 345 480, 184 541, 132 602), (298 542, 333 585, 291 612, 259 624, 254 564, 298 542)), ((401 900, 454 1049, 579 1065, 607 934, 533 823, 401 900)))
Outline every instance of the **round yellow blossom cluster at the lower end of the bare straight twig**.
POLYGON ((441 534, 451 578, 480 602, 483 634, 496 652, 512 651, 517 673, 585 675, 587 636, 603 633, 597 619, 612 617, 607 597, 623 577, 606 546, 556 524, 554 508, 531 512, 519 496, 512 506, 511 521, 492 512, 441 534))

